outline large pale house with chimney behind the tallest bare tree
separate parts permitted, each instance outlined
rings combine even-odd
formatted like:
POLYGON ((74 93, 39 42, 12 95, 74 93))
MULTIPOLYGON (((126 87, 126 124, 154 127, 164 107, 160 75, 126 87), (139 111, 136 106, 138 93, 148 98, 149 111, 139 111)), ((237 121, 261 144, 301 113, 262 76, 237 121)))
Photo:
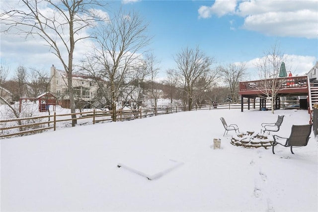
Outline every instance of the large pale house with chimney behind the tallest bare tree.
MULTIPOLYGON (((76 104, 89 105, 94 100, 97 86, 93 80, 85 75, 73 74, 72 84, 76 104)), ((65 71, 58 70, 54 65, 51 67, 50 91, 58 99, 58 105, 70 108, 70 97, 68 89, 68 77, 65 71)))

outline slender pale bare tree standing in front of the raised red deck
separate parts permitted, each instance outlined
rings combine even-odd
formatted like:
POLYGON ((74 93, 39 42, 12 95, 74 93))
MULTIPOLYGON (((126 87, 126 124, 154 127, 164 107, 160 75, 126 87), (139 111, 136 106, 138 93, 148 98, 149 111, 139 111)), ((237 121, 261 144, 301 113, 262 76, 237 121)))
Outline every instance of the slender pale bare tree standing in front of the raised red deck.
POLYGON ((276 98, 278 98, 278 93, 282 84, 285 83, 284 80, 279 78, 281 63, 285 60, 284 54, 280 52, 279 47, 275 44, 256 64, 258 75, 261 79, 258 88, 262 93, 260 98, 265 96, 270 99, 272 113, 274 113, 274 104, 276 98))

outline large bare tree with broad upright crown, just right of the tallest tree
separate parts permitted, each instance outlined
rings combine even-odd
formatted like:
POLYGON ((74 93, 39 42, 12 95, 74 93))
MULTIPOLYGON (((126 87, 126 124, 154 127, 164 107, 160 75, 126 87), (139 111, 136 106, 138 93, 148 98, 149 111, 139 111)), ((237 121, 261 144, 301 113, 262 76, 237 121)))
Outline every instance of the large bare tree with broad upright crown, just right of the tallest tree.
MULTIPOLYGON (((83 69, 109 84, 109 90, 101 93, 110 93, 113 121, 116 121, 116 102, 123 86, 140 65, 140 55, 151 39, 147 27, 137 13, 120 10, 111 21, 97 29, 94 52, 85 55, 83 69)), ((102 89, 105 87, 101 86, 102 89)))

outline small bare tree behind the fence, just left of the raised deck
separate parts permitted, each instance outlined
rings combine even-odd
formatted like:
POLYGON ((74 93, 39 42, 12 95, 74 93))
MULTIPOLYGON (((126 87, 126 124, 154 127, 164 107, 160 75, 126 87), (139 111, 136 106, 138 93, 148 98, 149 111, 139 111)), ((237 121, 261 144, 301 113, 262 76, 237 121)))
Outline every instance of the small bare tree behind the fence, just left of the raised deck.
POLYGON ((233 102, 238 101, 239 81, 245 75, 245 64, 228 64, 227 67, 220 67, 220 75, 224 82, 229 85, 231 98, 233 102))

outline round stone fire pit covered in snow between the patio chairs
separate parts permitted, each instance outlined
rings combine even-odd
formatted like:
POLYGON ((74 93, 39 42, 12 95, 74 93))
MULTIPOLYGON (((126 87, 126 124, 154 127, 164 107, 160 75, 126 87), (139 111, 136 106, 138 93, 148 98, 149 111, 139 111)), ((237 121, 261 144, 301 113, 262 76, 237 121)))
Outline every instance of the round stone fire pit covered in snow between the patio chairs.
POLYGON ((254 131, 247 131, 238 133, 232 136, 231 144, 245 148, 259 148, 267 149, 272 146, 274 138, 272 135, 261 134, 254 131))

